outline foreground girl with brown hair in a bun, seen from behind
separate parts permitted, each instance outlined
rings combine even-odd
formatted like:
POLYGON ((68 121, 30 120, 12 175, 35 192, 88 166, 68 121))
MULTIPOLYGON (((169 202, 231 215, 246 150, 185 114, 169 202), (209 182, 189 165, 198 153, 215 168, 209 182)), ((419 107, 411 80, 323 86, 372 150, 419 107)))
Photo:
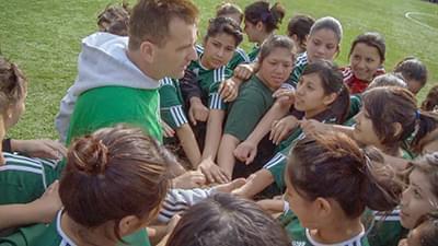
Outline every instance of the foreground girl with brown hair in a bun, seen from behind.
POLYGON ((103 128, 76 140, 59 183, 64 208, 33 245, 149 245, 145 226, 158 214, 173 163, 140 129, 103 128))

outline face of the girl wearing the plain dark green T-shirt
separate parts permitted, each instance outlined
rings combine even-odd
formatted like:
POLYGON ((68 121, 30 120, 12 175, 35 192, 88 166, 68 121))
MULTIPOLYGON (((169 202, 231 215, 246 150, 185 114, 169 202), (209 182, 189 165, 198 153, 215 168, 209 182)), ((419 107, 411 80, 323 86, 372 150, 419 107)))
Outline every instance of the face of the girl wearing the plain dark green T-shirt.
POLYGON ((258 78, 273 91, 279 89, 293 69, 293 54, 286 48, 274 48, 262 61, 258 78))

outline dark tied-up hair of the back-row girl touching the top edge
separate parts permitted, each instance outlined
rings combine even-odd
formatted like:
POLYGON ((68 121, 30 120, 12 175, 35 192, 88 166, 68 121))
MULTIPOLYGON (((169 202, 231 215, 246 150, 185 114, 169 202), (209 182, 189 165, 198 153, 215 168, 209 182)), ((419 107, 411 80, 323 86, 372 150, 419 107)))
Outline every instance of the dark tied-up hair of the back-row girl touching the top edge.
POLYGON ((269 2, 261 0, 247 5, 244 13, 246 21, 252 24, 262 22, 265 25, 266 32, 270 33, 278 28, 278 24, 281 23, 286 10, 279 2, 269 8, 269 2))

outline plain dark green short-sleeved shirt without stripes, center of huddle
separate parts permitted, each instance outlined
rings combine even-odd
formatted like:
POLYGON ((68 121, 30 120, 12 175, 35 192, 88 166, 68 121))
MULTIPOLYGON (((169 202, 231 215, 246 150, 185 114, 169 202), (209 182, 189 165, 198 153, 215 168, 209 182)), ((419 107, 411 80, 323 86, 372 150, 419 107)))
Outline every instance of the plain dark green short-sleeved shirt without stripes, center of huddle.
POLYGON ((273 103, 273 91, 253 75, 242 85, 241 93, 231 105, 223 133, 245 140, 273 103))

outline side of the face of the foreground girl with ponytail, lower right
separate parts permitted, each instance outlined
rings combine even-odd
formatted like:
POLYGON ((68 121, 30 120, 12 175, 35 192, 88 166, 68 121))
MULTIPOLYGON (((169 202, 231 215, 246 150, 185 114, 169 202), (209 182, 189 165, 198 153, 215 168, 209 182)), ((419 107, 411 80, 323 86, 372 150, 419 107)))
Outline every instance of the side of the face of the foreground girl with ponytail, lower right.
POLYGON ((289 178, 286 178, 286 199, 289 202, 289 209, 297 215, 301 225, 307 229, 318 229, 321 219, 318 218, 316 203, 307 200, 290 184, 289 178))

